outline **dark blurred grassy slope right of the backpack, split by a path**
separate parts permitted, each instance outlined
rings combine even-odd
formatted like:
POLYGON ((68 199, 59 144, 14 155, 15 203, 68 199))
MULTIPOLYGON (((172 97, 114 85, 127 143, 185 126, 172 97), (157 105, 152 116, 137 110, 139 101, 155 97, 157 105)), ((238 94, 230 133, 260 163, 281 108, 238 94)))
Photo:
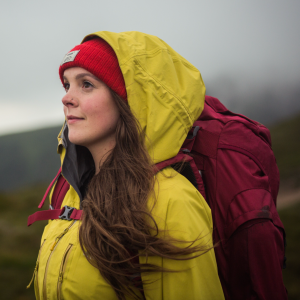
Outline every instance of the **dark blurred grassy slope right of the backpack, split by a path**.
MULTIPOLYGON (((280 171, 281 186, 299 189, 300 185, 300 115, 271 128, 273 150, 280 171)), ((286 230, 287 269, 283 278, 289 300, 300 299, 300 199, 297 204, 279 211, 286 230)))

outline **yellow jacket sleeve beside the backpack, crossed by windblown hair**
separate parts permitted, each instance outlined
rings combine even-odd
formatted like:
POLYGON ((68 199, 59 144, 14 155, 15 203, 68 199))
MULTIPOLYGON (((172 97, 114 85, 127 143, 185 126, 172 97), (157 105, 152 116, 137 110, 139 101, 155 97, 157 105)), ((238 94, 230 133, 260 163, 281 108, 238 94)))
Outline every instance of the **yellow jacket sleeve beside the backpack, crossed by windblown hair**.
MULTIPOLYGON (((222 300, 224 295, 212 248, 210 209, 201 194, 182 175, 177 174, 174 178, 168 178, 168 181, 174 184, 165 187, 163 182, 160 182, 160 193, 153 212, 158 224, 163 218, 163 203, 168 200, 163 222, 165 234, 185 241, 185 243, 179 242, 179 247, 188 247, 192 241, 197 240, 196 244, 210 247, 210 250, 188 260, 152 257, 151 262, 175 272, 157 274, 155 276, 159 277, 155 278, 152 276, 152 281, 157 279, 157 282, 149 288, 144 285, 146 299, 222 300)), ((144 279, 146 278, 143 278, 143 282, 145 282, 144 279)))

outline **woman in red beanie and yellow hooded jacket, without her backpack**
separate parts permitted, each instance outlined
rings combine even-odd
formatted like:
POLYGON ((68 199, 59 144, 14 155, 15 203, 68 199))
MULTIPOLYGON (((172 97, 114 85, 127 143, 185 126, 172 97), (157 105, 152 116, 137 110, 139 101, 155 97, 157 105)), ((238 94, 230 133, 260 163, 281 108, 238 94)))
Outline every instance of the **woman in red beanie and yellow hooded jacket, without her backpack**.
POLYGON ((224 299, 209 207, 172 167, 154 168, 203 109, 199 71, 157 37, 97 32, 59 75, 62 207, 83 213, 45 227, 37 299, 224 299))

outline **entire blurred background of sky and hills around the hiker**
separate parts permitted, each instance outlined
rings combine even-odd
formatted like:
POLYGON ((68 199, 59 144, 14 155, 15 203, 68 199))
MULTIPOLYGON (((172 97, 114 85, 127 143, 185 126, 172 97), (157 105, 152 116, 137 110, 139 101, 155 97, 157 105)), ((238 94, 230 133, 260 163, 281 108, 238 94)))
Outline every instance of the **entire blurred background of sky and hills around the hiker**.
POLYGON ((1 299, 29 283, 45 223, 26 227, 56 175, 64 121, 58 67, 89 33, 157 35, 201 72, 207 94, 271 130, 281 174, 289 299, 300 299, 300 2, 5 1, 0 4, 1 299))

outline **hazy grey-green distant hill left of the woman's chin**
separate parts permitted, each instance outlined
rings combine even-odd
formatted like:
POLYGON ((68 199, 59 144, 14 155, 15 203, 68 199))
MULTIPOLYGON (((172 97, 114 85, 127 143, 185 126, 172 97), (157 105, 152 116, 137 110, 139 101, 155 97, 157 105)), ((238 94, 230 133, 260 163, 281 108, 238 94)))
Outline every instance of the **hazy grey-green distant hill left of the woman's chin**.
POLYGON ((0 137, 0 190, 47 183, 60 162, 56 153, 60 127, 0 137))

